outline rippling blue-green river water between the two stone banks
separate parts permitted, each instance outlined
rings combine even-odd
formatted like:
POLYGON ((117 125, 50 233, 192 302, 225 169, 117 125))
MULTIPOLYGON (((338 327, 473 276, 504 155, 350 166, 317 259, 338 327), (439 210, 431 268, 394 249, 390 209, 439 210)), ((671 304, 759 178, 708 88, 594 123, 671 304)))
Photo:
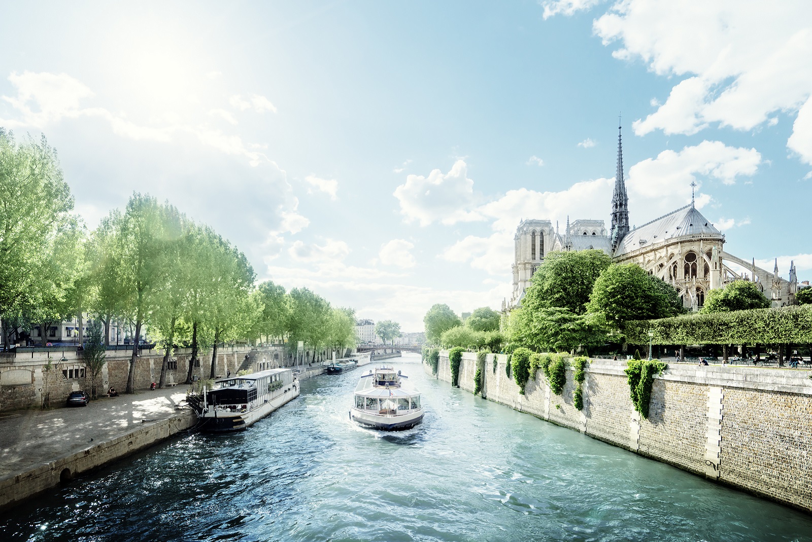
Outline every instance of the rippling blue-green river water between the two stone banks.
POLYGON ((0 540, 812 540, 812 517, 426 376, 417 428, 348 419, 368 368, 248 431, 177 438, 0 516, 0 540))

